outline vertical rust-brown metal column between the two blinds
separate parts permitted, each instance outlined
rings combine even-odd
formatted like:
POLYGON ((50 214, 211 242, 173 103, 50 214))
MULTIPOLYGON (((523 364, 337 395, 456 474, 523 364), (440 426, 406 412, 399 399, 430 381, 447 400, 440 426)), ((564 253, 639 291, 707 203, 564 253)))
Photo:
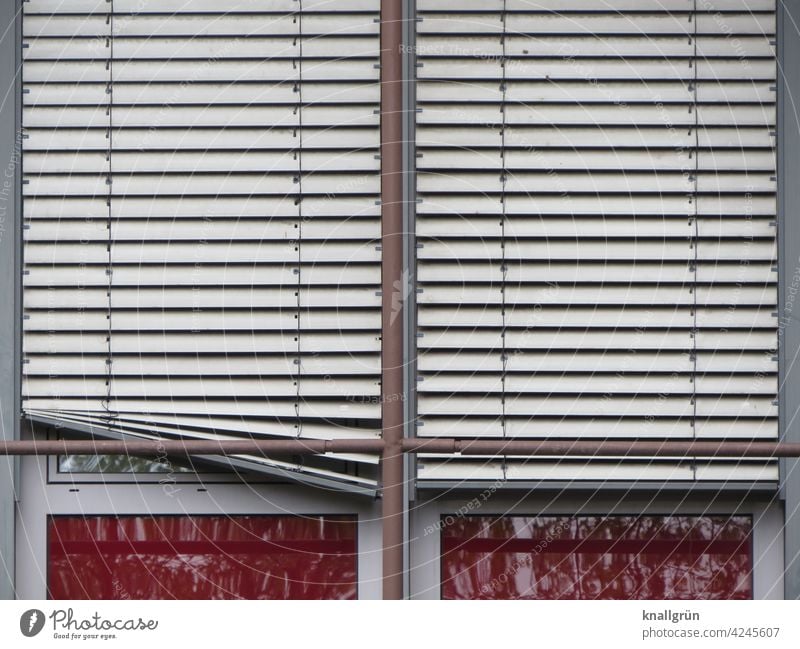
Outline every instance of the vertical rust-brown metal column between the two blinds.
POLYGON ((381 0, 381 417, 383 598, 403 599, 403 35, 402 0, 381 0))

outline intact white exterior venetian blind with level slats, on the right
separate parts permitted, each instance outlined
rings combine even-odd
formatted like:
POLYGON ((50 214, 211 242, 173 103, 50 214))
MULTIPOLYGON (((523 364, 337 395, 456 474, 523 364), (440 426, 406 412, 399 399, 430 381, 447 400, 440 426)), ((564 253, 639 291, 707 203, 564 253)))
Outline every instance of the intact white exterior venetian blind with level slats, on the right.
MULTIPOLYGON (((419 0, 417 434, 774 439, 774 0, 419 0)), ((775 480, 422 456, 422 480, 775 480)))

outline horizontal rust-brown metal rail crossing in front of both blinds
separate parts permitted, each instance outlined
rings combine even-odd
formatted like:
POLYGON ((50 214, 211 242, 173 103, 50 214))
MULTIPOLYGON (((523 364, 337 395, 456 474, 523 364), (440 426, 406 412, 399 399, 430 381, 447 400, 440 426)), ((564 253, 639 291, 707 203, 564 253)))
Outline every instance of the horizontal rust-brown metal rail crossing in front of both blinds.
MULTIPOLYGON (((15 440, 0 442, 2 455, 286 455, 381 453, 381 439, 242 440, 15 440)), ((800 442, 606 441, 508 439, 404 439, 403 453, 555 457, 800 457, 800 442)))

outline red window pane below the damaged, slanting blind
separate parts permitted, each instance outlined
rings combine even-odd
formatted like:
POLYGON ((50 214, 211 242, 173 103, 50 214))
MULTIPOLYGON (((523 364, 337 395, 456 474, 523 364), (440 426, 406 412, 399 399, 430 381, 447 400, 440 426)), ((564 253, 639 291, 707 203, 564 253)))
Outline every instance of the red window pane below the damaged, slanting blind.
POLYGON ((51 599, 355 599, 348 516, 88 516, 48 524, 51 599))

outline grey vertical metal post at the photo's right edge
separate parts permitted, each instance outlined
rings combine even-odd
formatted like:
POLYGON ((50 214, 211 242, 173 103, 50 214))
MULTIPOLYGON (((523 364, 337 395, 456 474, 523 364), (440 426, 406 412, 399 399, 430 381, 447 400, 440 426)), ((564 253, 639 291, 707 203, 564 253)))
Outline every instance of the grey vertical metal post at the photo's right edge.
MULTIPOLYGON (((778 1, 778 322, 780 437, 800 441, 800 0, 778 1)), ((800 599, 800 460, 780 462, 784 597, 800 599)))

